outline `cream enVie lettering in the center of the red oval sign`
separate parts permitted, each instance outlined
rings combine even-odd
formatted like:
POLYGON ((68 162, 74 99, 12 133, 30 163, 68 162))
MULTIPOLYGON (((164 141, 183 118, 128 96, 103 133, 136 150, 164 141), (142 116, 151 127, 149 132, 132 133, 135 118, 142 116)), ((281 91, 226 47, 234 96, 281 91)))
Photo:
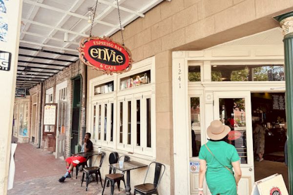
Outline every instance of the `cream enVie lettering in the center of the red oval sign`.
POLYGON ((114 50, 109 50, 107 48, 105 49, 96 49, 96 48, 92 48, 90 50, 90 56, 92 58, 97 58, 97 59, 102 59, 102 53, 104 55, 103 60, 106 61, 112 61, 112 62, 118 62, 118 63, 122 63, 123 62, 123 57, 121 55, 117 55, 116 56, 116 52, 114 50))

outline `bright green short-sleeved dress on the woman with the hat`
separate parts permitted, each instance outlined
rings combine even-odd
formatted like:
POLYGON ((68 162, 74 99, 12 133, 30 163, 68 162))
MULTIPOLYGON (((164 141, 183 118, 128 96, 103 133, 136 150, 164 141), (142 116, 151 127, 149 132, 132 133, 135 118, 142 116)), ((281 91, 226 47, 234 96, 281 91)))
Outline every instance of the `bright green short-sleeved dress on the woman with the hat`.
MULTIPOLYGON (((231 162, 239 160, 235 147, 225 141, 208 141, 209 150, 225 166, 232 170, 231 162)), ((206 148, 201 146, 199 159, 206 160, 206 179, 212 195, 237 195, 235 178, 231 172, 219 163, 206 148)))

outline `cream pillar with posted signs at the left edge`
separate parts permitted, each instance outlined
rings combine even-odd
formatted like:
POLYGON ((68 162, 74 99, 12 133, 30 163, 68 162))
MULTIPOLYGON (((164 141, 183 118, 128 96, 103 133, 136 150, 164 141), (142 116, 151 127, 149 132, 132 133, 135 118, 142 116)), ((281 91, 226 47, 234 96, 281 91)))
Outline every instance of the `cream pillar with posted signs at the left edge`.
POLYGON ((21 10, 22 0, 4 0, 2 3, 0 25, 4 28, 1 29, 3 39, 0 40, 0 195, 7 194, 21 10))

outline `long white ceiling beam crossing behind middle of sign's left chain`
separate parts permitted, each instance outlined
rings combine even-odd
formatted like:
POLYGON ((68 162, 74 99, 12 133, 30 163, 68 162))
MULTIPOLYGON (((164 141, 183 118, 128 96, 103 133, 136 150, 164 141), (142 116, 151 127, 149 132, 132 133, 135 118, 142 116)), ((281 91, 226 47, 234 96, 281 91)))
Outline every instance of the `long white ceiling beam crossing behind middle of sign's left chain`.
MULTIPOLYGON (((23 0, 23 2, 28 3, 28 4, 31 4, 31 5, 36 5, 36 6, 45 8, 45 9, 50 9, 50 10, 53 10, 53 11, 56 11, 56 12, 60 12, 60 13, 63 13, 63 14, 67 14, 67 15, 70 15, 70 16, 74 16, 76 18, 84 19, 86 21, 88 20, 88 17, 86 17, 86 16, 83 16, 83 15, 80 15, 80 14, 76 14, 76 13, 71 12, 71 11, 66 11, 66 10, 63 10, 63 9, 59 9, 59 8, 56 8, 56 7, 52 7, 52 6, 49 6, 49 5, 45 5, 45 4, 42 4, 42 3, 38 3, 36 1, 23 0)), ((95 22, 100 23, 100 24, 104 24, 106 26, 110 26, 110 27, 113 27, 113 28, 120 29, 117 25, 114 25, 114 24, 111 24, 111 23, 108 23, 108 22, 105 22, 105 21, 95 20, 95 22)), ((87 36, 84 36, 84 37, 87 37, 87 36)))

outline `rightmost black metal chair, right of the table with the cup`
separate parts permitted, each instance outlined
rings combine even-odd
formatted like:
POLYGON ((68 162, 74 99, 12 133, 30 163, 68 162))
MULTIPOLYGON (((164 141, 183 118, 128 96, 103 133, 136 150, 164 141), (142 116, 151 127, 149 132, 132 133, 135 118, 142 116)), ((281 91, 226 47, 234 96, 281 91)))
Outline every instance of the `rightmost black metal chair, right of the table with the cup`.
POLYGON ((159 195, 157 189, 158 189, 160 181, 161 181, 161 179, 162 179, 162 177, 164 175, 166 167, 165 167, 164 164, 161 164, 159 162, 151 162, 148 165, 148 168, 147 168, 147 171, 146 171, 146 176, 147 176, 149 167, 153 163, 155 164, 155 175, 154 175, 153 183, 146 183, 146 177, 145 177, 145 180, 144 180, 143 184, 134 186, 134 195, 136 195, 136 194, 139 194, 139 195, 153 195, 153 194, 159 195), (163 173, 161 174, 162 167, 164 168, 164 170, 163 170, 163 173))

